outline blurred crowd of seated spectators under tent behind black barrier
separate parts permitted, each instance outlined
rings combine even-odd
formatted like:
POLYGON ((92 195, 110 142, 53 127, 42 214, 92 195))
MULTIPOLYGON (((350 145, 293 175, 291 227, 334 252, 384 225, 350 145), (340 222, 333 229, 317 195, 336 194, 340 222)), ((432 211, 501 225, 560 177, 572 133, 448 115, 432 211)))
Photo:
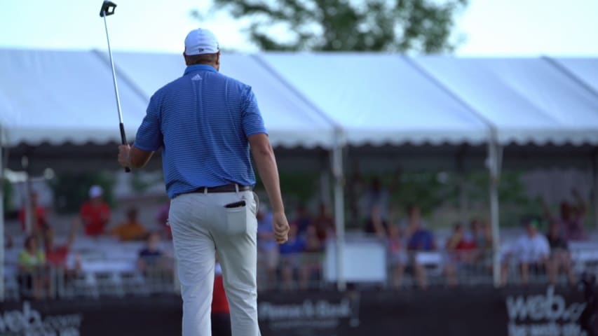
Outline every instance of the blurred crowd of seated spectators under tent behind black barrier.
MULTIPOLYGON (((365 214, 362 229, 348 230, 346 239, 367 237, 386 255, 386 279, 355 283, 405 290, 429 286, 492 286, 493 257, 500 260, 501 286, 550 283, 574 285, 582 274, 598 274, 598 236, 585 232, 585 205, 563 204, 558 216, 522 218, 520 228, 501 230, 498 246, 489 223, 473 219, 456 223, 450 232, 433 231, 416 205, 409 205, 402 220, 388 215, 388 192, 374 180, 360 200, 365 214)), ((122 223, 111 223, 111 209, 102 201, 102 190, 90 188, 71 228, 55 241, 55 230, 46 211, 32 198, 33 227, 6 239, 4 265, 6 297, 99 297, 102 295, 151 295, 178 290, 173 246, 168 227, 168 204, 159 207, 158 230, 143 225, 135 207, 122 223)), ((156 212, 156 209, 154 209, 156 212)), ((25 211, 19 221, 25 228, 25 211)), ((325 262, 330 241, 335 241, 334 218, 325 204, 315 215, 299 204, 290 216, 289 241, 278 245, 271 227, 272 214, 265 204, 257 211, 259 290, 329 289, 325 262)), ((154 225, 155 227, 156 225, 154 225)), ((598 232, 597 232, 598 233, 598 232)), ((361 255, 368 262, 368 255, 361 255)), ((379 260, 380 261, 380 260, 379 260)), ((359 265, 354 265, 360 267, 359 265)))

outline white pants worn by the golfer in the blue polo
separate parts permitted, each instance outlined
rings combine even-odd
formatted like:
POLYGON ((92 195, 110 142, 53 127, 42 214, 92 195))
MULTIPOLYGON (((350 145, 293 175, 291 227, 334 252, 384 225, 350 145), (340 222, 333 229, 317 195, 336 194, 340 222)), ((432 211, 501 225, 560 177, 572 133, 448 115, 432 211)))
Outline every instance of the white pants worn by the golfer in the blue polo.
POLYGON ((212 335, 210 314, 215 251, 231 309, 233 336, 259 336, 257 212, 251 191, 190 193, 170 202, 175 258, 183 299, 183 336, 212 335), (224 205, 245 200, 244 207, 224 205))

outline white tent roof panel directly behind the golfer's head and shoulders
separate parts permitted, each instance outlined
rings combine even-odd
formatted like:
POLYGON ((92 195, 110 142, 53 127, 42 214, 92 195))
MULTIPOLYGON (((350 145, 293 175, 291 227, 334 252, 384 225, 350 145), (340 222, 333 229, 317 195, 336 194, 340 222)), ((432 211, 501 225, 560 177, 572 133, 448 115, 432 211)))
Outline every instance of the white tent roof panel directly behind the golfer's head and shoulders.
MULTIPOLYGON (((119 72, 137 86, 148 101, 156 90, 182 76, 185 70, 184 59, 179 54, 118 52, 114 60, 119 72)), ((254 57, 224 54, 220 72, 252 86, 273 145, 332 147, 334 132, 327 117, 254 57)))

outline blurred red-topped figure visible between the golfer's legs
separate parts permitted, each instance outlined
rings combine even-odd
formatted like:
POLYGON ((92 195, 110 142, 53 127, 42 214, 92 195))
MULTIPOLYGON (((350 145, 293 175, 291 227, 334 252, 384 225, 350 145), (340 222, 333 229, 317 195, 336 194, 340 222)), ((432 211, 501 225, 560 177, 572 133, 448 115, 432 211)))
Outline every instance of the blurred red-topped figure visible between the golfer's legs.
POLYGON ((214 266, 214 293, 212 293, 212 336, 231 336, 231 309, 226 300, 222 267, 214 266))

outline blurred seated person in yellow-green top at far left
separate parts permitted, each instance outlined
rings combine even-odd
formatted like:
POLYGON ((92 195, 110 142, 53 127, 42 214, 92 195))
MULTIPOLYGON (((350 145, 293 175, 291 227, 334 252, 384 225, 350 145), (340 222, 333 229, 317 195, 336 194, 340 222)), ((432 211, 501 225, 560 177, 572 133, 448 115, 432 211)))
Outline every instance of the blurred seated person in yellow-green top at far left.
POLYGON ((22 295, 41 299, 50 282, 46 274, 46 255, 32 235, 25 239, 25 248, 19 253, 19 272, 22 295))

